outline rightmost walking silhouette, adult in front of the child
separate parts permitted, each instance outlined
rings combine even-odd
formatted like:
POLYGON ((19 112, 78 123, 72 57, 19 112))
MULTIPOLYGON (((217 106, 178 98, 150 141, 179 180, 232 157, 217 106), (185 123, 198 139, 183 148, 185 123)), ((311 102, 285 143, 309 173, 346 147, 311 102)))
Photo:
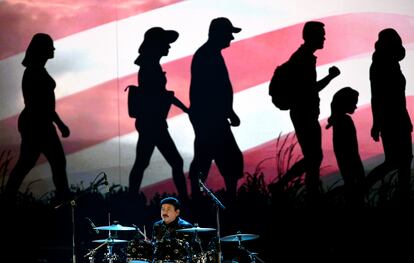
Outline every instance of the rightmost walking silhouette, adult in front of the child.
POLYGON ((398 171, 398 194, 406 199, 410 192, 413 125, 406 107, 406 80, 399 62, 405 57, 401 37, 392 28, 382 30, 375 43, 370 67, 371 136, 381 137, 385 161, 367 176, 368 187, 387 173, 398 171))

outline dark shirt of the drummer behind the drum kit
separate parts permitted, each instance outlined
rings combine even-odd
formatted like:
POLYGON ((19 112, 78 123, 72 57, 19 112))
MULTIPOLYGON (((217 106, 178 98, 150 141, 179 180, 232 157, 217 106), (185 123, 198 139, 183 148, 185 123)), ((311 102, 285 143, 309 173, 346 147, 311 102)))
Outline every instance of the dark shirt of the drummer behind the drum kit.
POLYGON ((180 239, 189 241, 190 233, 176 232, 176 230, 190 227, 193 227, 193 225, 179 217, 168 225, 163 220, 157 221, 153 225, 152 240, 180 239))

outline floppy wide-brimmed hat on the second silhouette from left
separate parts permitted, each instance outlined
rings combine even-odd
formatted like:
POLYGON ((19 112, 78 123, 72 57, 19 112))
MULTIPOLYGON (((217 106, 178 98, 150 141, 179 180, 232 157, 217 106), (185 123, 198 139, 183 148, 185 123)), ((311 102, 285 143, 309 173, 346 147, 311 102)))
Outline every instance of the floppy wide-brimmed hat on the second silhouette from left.
POLYGON ((174 30, 165 30, 161 27, 152 27, 144 34, 144 41, 139 47, 139 53, 145 52, 145 49, 151 46, 159 46, 161 44, 170 44, 177 40, 178 32, 174 30))

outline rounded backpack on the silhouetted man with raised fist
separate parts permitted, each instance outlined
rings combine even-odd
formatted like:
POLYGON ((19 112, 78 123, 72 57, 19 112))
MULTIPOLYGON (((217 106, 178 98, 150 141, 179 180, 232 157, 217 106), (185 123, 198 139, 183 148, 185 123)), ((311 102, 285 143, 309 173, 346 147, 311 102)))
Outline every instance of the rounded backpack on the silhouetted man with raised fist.
POLYGON ((289 110, 292 106, 293 65, 288 60, 276 67, 269 83, 269 95, 272 103, 280 110, 289 110))

